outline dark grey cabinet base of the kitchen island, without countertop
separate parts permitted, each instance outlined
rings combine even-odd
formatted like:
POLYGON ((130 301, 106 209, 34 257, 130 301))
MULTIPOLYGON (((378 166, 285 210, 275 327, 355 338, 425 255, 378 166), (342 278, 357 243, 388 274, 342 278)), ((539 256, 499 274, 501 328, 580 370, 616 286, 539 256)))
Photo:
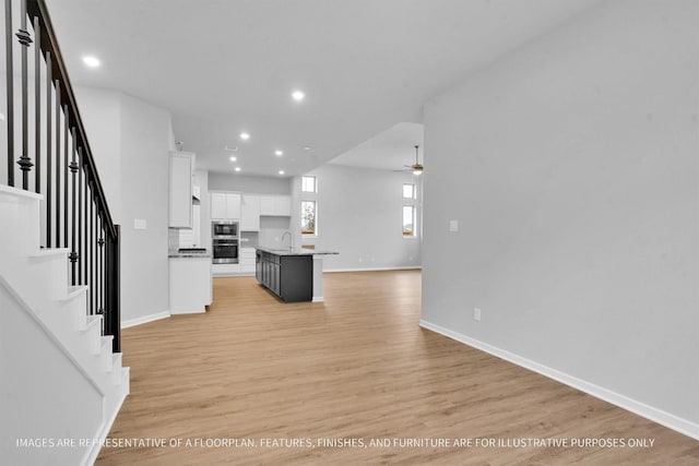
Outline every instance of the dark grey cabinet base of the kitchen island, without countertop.
POLYGON ((277 255, 257 251, 256 277, 285 302, 313 299, 313 260, 311 255, 277 255))

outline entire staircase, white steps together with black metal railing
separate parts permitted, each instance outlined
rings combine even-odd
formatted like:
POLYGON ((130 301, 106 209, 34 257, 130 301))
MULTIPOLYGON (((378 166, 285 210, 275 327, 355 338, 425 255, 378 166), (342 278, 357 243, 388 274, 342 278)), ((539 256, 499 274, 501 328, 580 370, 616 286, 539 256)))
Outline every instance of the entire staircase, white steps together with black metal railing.
POLYGON ((90 465, 129 393, 120 229, 45 1, 4 7, 0 464, 90 465))

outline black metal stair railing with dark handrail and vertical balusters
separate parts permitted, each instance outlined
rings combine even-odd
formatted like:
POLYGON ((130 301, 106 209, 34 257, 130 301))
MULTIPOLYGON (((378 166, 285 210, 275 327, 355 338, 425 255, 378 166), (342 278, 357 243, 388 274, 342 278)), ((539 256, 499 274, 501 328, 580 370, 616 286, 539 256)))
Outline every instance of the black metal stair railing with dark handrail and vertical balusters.
POLYGON ((70 251, 70 282, 87 286, 86 312, 103 314, 103 334, 112 335, 112 349, 120 351, 120 230, 44 0, 5 0, 4 29, 7 153, 0 157, 7 160, 0 177, 43 195, 43 247, 70 251))

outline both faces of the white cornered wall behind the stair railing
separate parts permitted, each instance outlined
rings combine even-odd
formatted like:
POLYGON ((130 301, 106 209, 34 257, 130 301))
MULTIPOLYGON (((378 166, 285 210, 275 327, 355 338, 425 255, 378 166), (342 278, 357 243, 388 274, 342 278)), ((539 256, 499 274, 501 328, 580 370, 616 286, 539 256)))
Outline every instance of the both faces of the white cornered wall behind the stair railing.
POLYGON ((168 311, 169 112, 134 97, 76 87, 115 222, 121 225, 121 320, 168 311), (135 218, 146 229, 133 228, 135 218))

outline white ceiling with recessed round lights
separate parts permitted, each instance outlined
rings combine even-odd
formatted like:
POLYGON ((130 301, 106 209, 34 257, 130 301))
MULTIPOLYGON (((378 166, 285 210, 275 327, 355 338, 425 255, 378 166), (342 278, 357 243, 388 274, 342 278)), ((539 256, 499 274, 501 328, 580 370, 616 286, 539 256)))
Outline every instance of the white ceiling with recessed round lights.
POLYGON ((201 168, 232 171, 224 146, 234 145, 241 174, 292 176, 337 156, 380 168, 412 163, 418 142, 407 128, 417 127, 398 123, 420 123, 427 99, 597 1, 47 3, 73 83, 168 109, 201 168), (100 68, 83 65, 88 53, 100 68), (291 98, 295 88, 303 103, 291 98))

